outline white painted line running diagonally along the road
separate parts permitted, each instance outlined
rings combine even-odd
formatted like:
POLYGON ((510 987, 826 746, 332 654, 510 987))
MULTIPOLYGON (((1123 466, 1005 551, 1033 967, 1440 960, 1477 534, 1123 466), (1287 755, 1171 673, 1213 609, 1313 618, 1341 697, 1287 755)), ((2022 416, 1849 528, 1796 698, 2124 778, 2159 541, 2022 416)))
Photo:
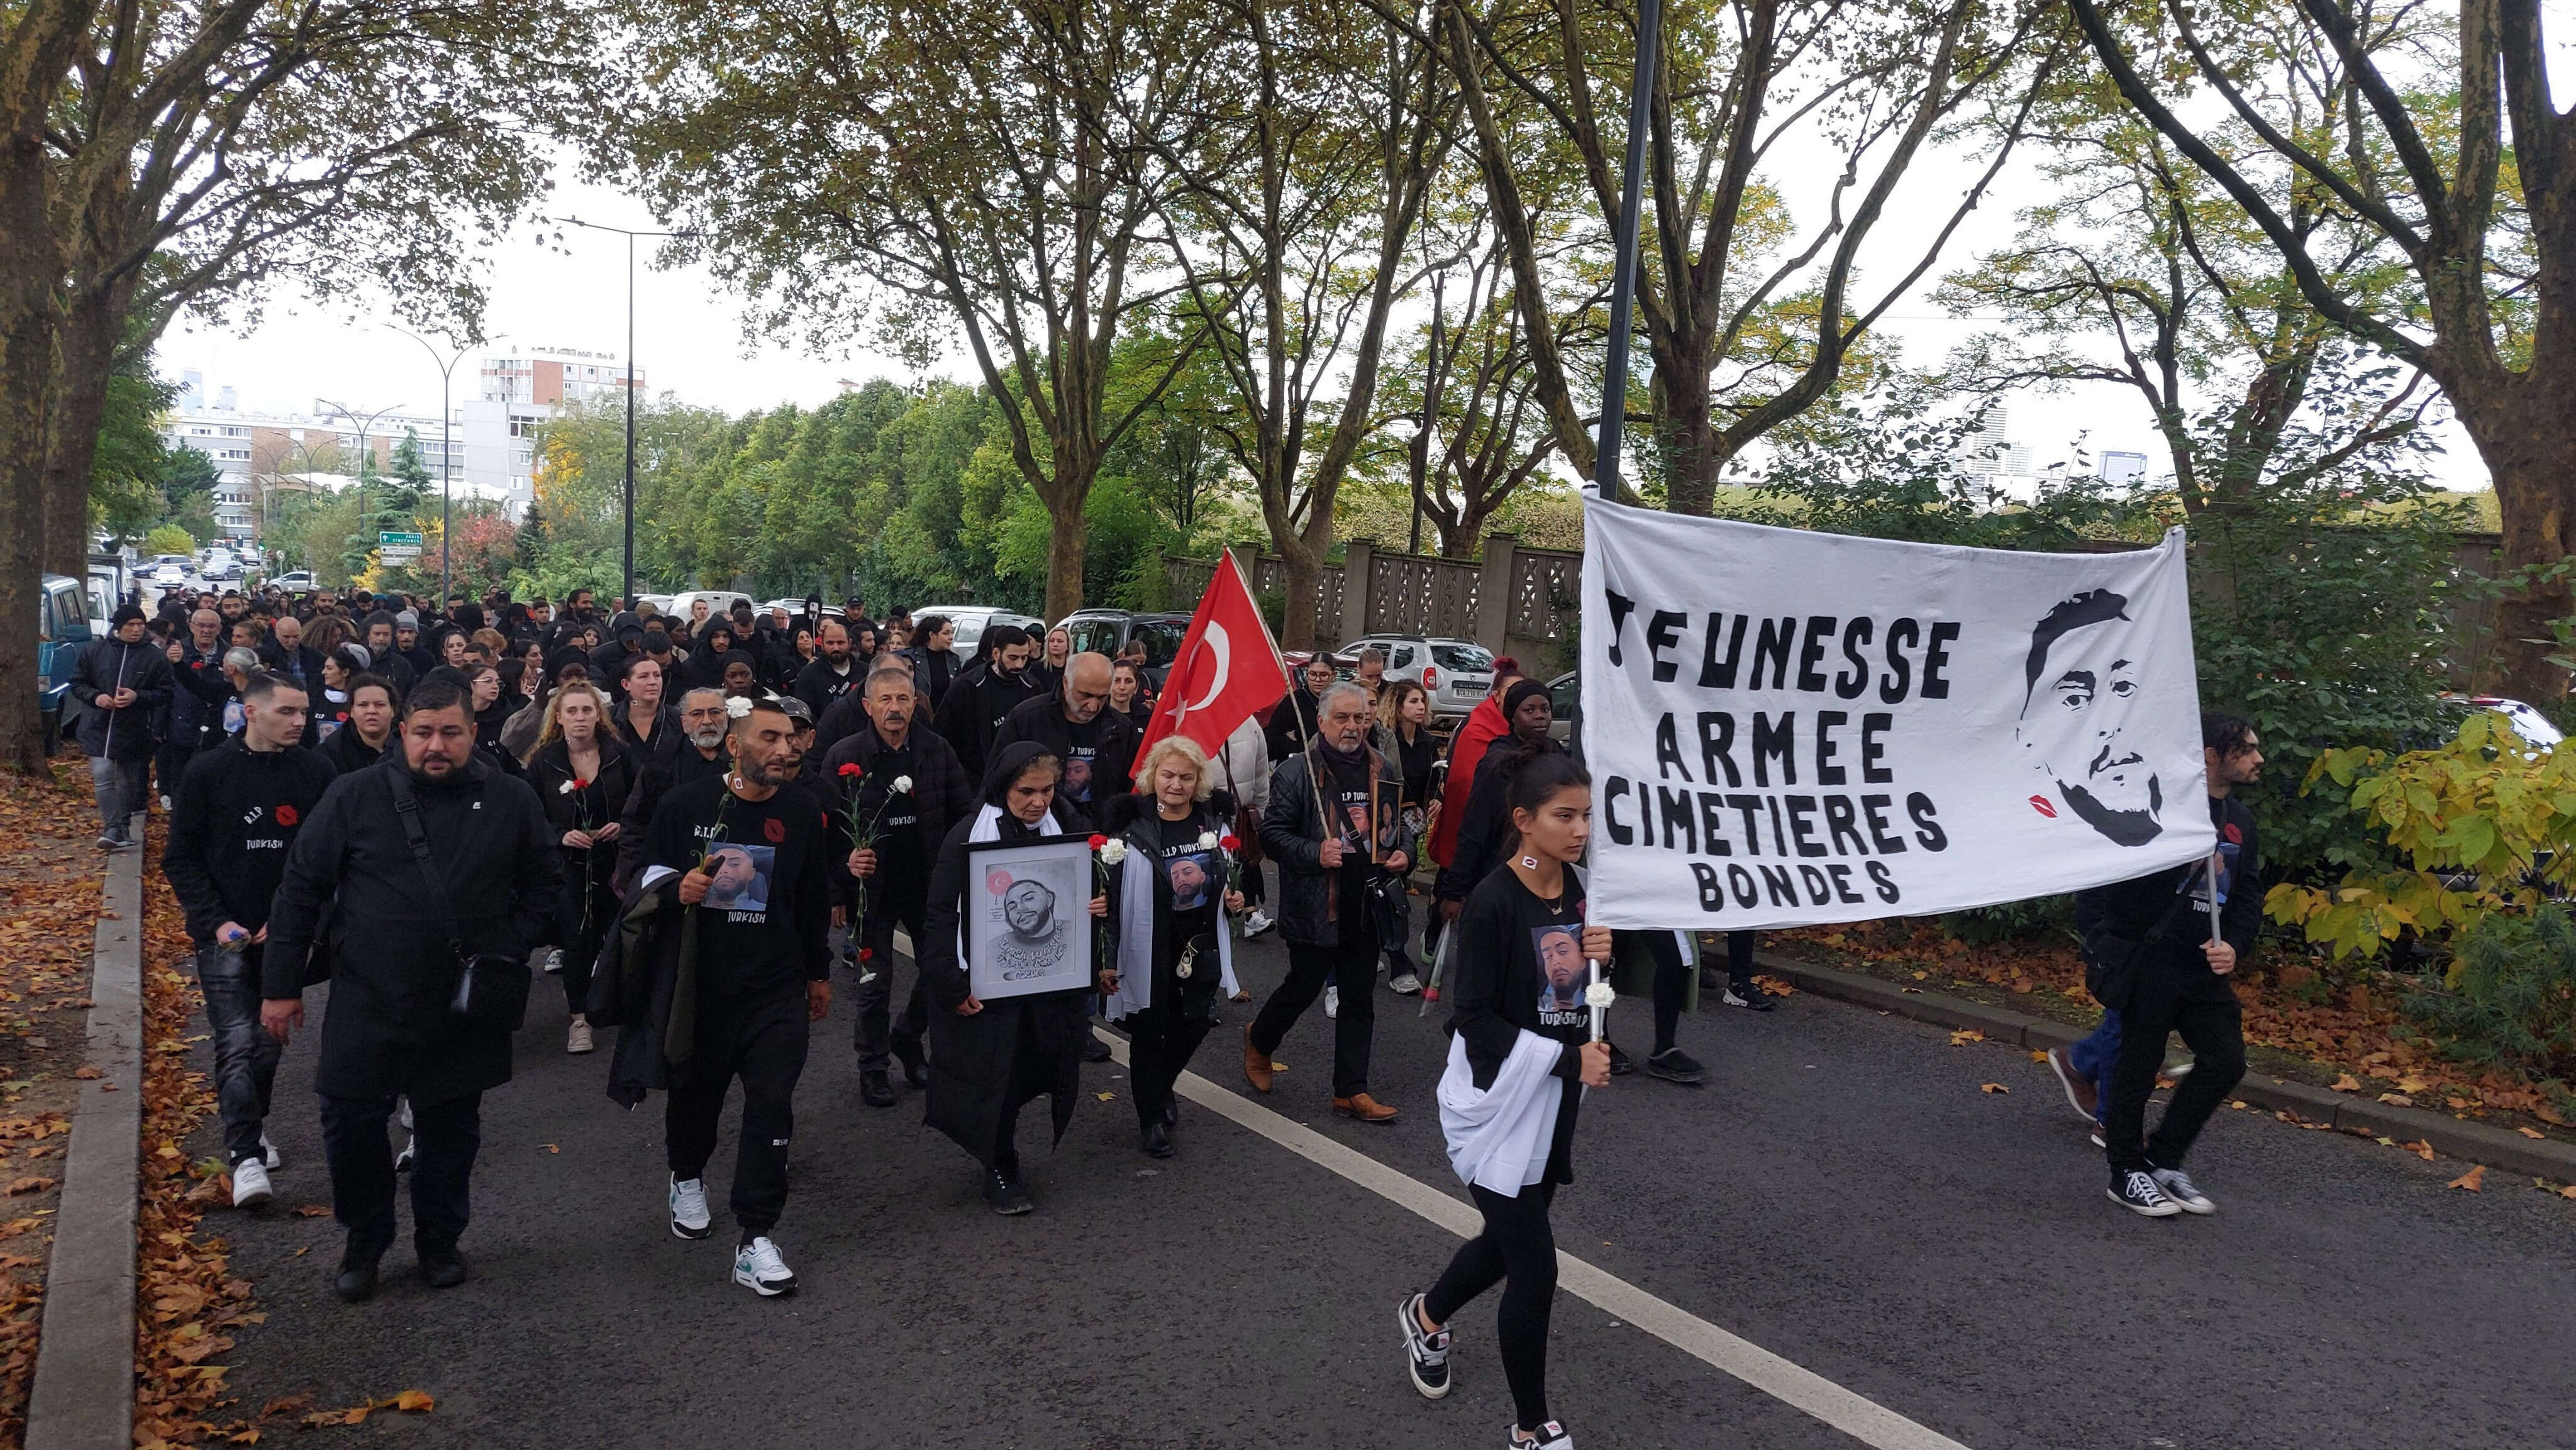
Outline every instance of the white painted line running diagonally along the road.
MULTIPOLYGON (((1118 1066, 1126 1066, 1126 1038, 1103 1028, 1092 1028, 1092 1033, 1110 1046, 1118 1066)), ((1368 1154, 1345 1149, 1314 1128, 1293 1123, 1239 1092, 1229 1092, 1206 1077, 1198 1077, 1195 1071, 1180 1074, 1177 1092, 1180 1097, 1188 1097, 1190 1102, 1198 1102, 1200 1107, 1270 1138, 1291 1154, 1332 1169, 1399 1208, 1409 1208, 1422 1218, 1430 1218, 1461 1239, 1473 1239, 1484 1229, 1484 1216, 1479 1216, 1471 1203, 1440 1192, 1406 1172, 1391 1169, 1368 1154)), ((1674 1350, 1744 1380, 1780 1404, 1803 1409, 1873 1450, 1968 1450, 1958 1440, 1950 1440, 1927 1424, 1917 1424, 1814 1370, 1803 1370, 1752 1339, 1728 1334, 1698 1313, 1664 1303, 1633 1283, 1587 1265, 1564 1249, 1556 1252, 1556 1285, 1602 1308, 1613 1319, 1623 1319, 1674 1350)))

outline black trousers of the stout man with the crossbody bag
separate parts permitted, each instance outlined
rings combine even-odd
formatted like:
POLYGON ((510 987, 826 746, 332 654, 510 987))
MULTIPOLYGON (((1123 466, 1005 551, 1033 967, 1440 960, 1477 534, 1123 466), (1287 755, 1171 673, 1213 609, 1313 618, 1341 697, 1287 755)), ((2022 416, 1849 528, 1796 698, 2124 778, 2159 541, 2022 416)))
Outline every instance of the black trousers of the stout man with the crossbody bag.
MULTIPOLYGON (((392 1118, 392 1097, 322 1100, 330 1205, 348 1229, 343 1262, 350 1265, 374 1262, 394 1247, 394 1144, 384 1136, 392 1118)), ((482 1092, 412 1102, 412 1244, 422 1257, 448 1254, 464 1236, 477 1151, 482 1092)))

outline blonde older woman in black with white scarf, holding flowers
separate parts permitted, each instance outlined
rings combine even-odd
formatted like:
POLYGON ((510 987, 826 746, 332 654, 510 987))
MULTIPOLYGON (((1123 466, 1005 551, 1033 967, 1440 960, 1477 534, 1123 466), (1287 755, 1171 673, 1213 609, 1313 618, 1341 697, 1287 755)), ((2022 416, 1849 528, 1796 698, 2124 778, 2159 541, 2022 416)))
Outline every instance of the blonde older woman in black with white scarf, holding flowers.
POLYGON ((1234 994, 1226 917, 1244 909, 1229 886, 1234 798, 1198 744, 1164 737, 1144 752, 1139 796, 1115 796, 1100 829, 1126 842, 1115 876, 1115 966, 1100 974, 1108 1017, 1128 1033, 1128 1097, 1144 1151, 1172 1156, 1180 1105, 1172 1084, 1216 1025, 1218 992, 1234 994))

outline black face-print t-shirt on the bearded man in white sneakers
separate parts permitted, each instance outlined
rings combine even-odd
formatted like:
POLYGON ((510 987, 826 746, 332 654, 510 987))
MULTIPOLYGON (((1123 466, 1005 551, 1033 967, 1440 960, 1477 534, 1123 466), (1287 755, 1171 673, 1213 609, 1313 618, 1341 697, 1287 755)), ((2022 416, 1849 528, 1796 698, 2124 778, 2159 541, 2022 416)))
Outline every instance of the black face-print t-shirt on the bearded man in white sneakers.
POLYGON ((744 801, 724 775, 675 786, 654 809, 644 865, 711 863, 698 907, 698 986, 708 997, 762 997, 829 979, 824 822, 814 796, 788 786, 744 801))

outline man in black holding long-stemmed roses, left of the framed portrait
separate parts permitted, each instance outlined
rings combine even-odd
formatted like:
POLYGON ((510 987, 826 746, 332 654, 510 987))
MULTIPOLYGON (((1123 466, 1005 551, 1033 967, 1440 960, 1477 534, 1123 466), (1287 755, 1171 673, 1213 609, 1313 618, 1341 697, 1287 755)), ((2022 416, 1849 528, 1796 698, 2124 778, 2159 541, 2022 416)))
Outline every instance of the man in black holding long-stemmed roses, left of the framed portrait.
POLYGON ((868 670, 868 683, 858 693, 832 706, 835 713, 860 701, 866 716, 858 729, 837 739, 822 757, 822 788, 832 814, 850 819, 853 804, 860 822, 876 822, 876 837, 866 847, 850 850, 840 863, 837 886, 845 907, 858 904, 850 919, 850 963, 858 971, 858 1097, 868 1107, 894 1107, 894 1084, 886 1077, 886 1053, 904 1064, 904 1082, 922 1087, 930 1074, 922 1064, 922 1033, 930 1030, 930 976, 914 961, 912 997, 891 1035, 886 1004, 894 997, 894 927, 927 937, 930 852, 948 840, 948 829, 974 814, 974 786, 956 749, 930 726, 914 719, 920 701, 912 693, 912 670, 902 659, 881 659, 868 670), (909 780, 907 791, 896 791, 909 780))

